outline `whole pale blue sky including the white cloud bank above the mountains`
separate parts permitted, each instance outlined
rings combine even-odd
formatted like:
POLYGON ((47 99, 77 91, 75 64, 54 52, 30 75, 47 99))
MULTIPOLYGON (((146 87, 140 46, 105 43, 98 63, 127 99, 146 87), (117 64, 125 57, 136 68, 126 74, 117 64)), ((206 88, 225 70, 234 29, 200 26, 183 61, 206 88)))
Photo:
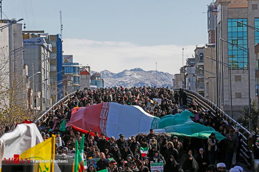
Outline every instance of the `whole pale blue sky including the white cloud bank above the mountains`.
MULTIPOLYGON (((165 60, 172 60, 175 64, 174 69, 168 66, 160 68, 160 71, 177 73, 182 65, 181 47, 187 48, 184 53, 187 58, 187 55, 190 57, 194 54, 196 44, 204 45, 208 40, 207 13, 203 12, 207 11, 207 5, 211 1, 194 2, 189 0, 4 0, 2 7, 8 18, 24 18, 26 30, 45 30, 50 34, 60 32, 59 11, 62 10, 64 53, 73 54, 74 62, 77 60, 81 64, 90 63, 92 70, 107 69, 119 72, 135 67, 154 70, 154 61, 165 58, 165 60), (78 42, 82 44, 79 45, 78 42), (112 48, 109 50, 111 45, 112 48), (131 55, 131 50, 127 50, 125 53, 128 55, 124 56, 123 50, 128 48, 125 45, 134 46, 136 49, 133 48, 132 51, 141 52, 131 55), (169 52, 170 49, 172 49, 171 52, 169 52), (118 54, 118 51, 122 51, 121 54, 118 54), (138 60, 133 60, 134 62, 130 63, 131 66, 114 69, 107 68, 107 65, 102 66, 100 63, 97 65, 98 61, 92 60, 96 58, 138 60), (148 65, 143 64, 145 62, 143 58, 147 58, 148 65)), ((118 66, 122 64, 116 63, 118 66)), ((158 63, 158 69, 162 65, 158 63)))

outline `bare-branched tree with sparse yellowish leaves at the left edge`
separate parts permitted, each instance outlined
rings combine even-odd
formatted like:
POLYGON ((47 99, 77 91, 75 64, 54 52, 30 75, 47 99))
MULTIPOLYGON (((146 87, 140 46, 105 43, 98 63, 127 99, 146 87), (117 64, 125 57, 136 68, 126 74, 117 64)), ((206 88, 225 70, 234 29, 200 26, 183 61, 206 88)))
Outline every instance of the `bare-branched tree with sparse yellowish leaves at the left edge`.
MULTIPOLYGON (((22 53, 22 52, 21 52, 22 53)), ((0 47, 0 135, 5 126, 12 126, 25 119, 35 120, 33 110, 28 110, 27 77, 21 67, 12 68, 20 56, 14 58, 8 46, 0 47)))

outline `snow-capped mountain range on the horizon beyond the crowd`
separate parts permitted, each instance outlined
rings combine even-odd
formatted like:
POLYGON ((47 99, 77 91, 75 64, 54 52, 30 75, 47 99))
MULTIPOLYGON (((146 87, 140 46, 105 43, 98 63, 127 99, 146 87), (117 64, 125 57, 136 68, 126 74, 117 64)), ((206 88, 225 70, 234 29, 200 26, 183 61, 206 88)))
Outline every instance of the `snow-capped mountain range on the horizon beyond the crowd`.
MULTIPOLYGON (((96 73, 91 71, 90 74, 96 73)), ((124 70, 120 73, 112 73, 110 71, 101 71, 101 77, 104 80, 104 87, 123 86, 125 87, 143 87, 145 86, 158 86, 158 87, 169 87, 172 86, 172 79, 174 75, 157 71, 144 71, 140 68, 131 70, 124 70), (157 79, 156 79, 157 76, 157 79), (157 83, 156 83, 157 81, 157 83)))

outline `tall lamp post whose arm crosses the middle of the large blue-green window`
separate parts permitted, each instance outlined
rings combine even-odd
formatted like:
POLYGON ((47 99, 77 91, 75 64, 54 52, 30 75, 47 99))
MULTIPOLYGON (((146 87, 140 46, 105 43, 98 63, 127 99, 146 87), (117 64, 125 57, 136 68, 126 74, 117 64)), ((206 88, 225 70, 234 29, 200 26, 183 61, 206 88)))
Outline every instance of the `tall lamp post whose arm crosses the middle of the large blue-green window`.
MULTIPOLYGON (((238 21, 237 21, 238 22, 238 21)), ((241 21, 239 21, 238 23, 243 24, 241 21)), ((249 60, 249 47, 248 48, 244 48, 242 46, 236 45, 236 44, 232 44, 231 42, 225 41, 224 39, 220 39, 223 42, 226 42, 232 46, 237 47, 239 50, 242 50, 244 52, 247 52, 247 69, 248 69, 248 109, 249 109, 249 115, 251 114, 251 103, 250 103, 250 99, 251 99, 251 94, 250 94, 250 60, 249 60)), ((231 71, 231 69, 230 69, 231 71)), ((249 131, 251 132, 251 119, 249 119, 249 131)))

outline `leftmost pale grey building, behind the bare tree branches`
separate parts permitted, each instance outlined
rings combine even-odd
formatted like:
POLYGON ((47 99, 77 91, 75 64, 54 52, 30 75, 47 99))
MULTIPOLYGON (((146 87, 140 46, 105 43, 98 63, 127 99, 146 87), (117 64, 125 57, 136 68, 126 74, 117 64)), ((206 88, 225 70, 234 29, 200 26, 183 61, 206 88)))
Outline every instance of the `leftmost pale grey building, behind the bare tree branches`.
POLYGON ((0 87, 1 96, 4 96, 0 107, 7 108, 12 101, 18 107, 28 108, 28 104, 24 103, 28 99, 28 73, 23 62, 22 24, 17 24, 15 19, 3 19, 0 27, 0 87))

